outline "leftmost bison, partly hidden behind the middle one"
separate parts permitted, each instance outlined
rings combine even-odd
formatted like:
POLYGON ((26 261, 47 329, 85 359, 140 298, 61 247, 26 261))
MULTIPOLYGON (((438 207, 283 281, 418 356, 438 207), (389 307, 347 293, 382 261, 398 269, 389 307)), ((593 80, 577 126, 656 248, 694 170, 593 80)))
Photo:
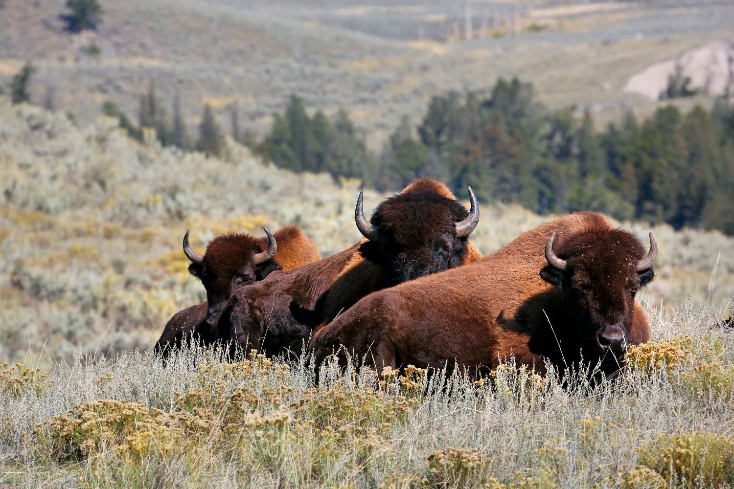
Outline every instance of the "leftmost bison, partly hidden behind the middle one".
POLYGON ((189 245, 189 231, 183 236, 183 252, 191 260, 189 272, 206 288, 207 301, 177 312, 166 324, 155 351, 175 348, 192 334, 205 343, 214 340, 212 333, 228 298, 239 288, 262 280, 272 271, 292 270, 319 260, 316 246, 297 227, 286 226, 266 236, 254 238, 232 233, 211 240, 201 256, 189 245))

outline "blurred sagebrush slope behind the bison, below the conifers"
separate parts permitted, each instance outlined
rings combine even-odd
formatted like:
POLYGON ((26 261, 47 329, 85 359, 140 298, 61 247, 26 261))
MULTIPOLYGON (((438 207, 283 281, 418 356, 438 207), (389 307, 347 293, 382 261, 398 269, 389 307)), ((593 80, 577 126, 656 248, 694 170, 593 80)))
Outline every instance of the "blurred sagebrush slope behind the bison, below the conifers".
MULTIPOLYGON (((44 345, 57 359, 75 349, 149 348, 168 317, 205 297, 181 251, 189 227, 200 251, 217 233, 260 234, 264 225, 298 224, 322 257, 360 238, 356 182, 291 174, 231 142, 222 161, 139 144, 106 118, 80 130, 63 114, 4 98, 0 168, 0 349, 8 361, 29 350, 37 357, 44 345)), ((368 191, 366 212, 383 197, 368 191)), ((472 239, 487 253, 551 218, 483 206, 472 239)), ((647 224, 624 225, 647 239, 647 224)), ((643 301, 690 297, 724 309, 734 295, 734 239, 653 231, 658 278, 643 301)))

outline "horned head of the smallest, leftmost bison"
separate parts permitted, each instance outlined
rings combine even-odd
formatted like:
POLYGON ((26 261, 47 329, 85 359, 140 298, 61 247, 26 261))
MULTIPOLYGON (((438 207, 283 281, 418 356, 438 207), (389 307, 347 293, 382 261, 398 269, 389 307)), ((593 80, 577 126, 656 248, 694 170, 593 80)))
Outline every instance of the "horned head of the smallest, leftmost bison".
POLYGON ((258 240, 246 234, 222 235, 211 240, 204 256, 189 245, 189 231, 183 236, 183 252, 191 260, 189 272, 197 276, 206 288, 206 323, 210 327, 217 325, 222 309, 236 290, 264 279, 274 270, 283 269, 275 261, 275 237, 265 228, 267 245, 265 238, 258 240))

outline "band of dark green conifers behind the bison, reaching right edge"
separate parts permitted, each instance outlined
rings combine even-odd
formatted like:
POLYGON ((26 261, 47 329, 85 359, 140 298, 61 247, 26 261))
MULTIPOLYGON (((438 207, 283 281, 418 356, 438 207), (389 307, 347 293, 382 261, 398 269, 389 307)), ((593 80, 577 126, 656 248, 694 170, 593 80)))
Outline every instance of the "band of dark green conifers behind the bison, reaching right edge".
POLYGON ((407 117, 371 153, 346 111, 309 116, 291 96, 258 151, 295 172, 357 177, 380 191, 434 177, 484 202, 539 214, 597 210, 618 219, 720 229, 734 235, 734 107, 683 114, 664 106, 595 130, 592 114, 550 110, 531 84, 500 79, 490 95, 433 97, 417 127, 407 117))

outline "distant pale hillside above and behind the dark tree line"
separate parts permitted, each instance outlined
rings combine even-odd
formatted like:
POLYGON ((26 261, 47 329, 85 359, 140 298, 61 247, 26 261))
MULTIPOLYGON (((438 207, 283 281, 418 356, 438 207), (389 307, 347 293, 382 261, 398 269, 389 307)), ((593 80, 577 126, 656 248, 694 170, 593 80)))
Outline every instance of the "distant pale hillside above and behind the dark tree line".
POLYGON ((237 103, 259 134, 297 93, 313 110, 348 108, 371 147, 401 115, 421 117, 432 95, 481 92, 499 76, 532 81, 551 106, 590 107, 602 123, 626 109, 647 114, 654 101, 622 92, 633 73, 734 29, 734 4, 710 1, 473 1, 467 23, 463 2, 448 0, 101 0, 98 31, 68 34, 64 3, 5 2, 0 85, 31 61, 34 100, 87 124, 103 100, 137 117, 153 81, 167 109, 181 95, 190 128, 205 102, 228 127, 237 103))

